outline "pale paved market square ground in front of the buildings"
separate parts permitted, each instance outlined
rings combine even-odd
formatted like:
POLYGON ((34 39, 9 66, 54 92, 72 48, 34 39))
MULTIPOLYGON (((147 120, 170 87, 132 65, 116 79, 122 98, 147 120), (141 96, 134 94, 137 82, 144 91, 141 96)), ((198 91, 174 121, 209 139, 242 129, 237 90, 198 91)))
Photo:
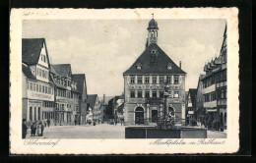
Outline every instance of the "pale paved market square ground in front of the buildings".
MULTIPOLYGON (((96 126, 52 126, 44 130, 44 138, 124 138, 125 127, 118 124, 96 126)), ((208 138, 225 138, 221 132, 208 131, 208 138)), ((27 136, 30 138, 31 136, 27 136)))

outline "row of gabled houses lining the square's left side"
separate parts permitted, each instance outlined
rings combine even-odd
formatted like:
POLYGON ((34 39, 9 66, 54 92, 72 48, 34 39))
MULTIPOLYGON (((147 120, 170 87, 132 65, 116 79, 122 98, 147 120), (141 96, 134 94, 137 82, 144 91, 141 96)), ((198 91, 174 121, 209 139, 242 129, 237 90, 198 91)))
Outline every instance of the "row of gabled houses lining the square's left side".
POLYGON ((23 120, 72 125, 99 119, 85 74, 73 74, 70 64, 52 65, 44 38, 23 38, 22 47, 23 120))

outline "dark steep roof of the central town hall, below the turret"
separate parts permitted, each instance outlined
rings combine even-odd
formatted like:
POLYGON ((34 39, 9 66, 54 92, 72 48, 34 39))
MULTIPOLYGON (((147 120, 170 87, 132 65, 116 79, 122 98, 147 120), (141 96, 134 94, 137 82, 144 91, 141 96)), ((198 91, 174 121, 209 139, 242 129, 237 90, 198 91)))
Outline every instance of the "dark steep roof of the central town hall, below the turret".
POLYGON ((186 73, 182 71, 159 47, 156 43, 151 43, 141 56, 133 63, 133 65, 123 73, 123 75, 145 75, 145 74, 181 74, 186 73), (157 62, 151 62, 152 50, 157 50, 157 62), (141 64, 142 69, 136 69, 136 65, 141 64), (168 64, 172 68, 167 69, 168 64))

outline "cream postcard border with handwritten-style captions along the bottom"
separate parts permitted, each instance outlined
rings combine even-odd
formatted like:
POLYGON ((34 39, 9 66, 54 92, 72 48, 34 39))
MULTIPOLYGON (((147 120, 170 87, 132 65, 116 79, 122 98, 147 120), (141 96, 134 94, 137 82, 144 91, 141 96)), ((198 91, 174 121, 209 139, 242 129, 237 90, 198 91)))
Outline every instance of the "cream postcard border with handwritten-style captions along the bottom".
MULTIPOLYGON (((239 148, 237 8, 174 9, 12 9, 10 54, 10 152, 11 154, 147 154, 231 153, 239 148), (22 139, 22 21, 33 19, 226 19, 227 22, 227 137, 219 145, 153 145, 152 139, 61 139, 54 147, 25 145, 22 139), (231 73, 229 73, 231 70, 231 73)), ((195 139, 184 139, 190 141, 195 139)))

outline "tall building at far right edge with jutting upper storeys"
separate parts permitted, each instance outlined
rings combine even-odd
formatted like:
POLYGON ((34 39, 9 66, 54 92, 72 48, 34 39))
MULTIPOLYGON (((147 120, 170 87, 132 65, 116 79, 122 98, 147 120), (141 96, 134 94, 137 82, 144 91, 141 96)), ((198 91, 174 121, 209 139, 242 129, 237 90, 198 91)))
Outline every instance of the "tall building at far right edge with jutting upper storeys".
POLYGON ((203 82, 204 108, 209 128, 226 128, 226 27, 220 56, 205 65, 203 82))

